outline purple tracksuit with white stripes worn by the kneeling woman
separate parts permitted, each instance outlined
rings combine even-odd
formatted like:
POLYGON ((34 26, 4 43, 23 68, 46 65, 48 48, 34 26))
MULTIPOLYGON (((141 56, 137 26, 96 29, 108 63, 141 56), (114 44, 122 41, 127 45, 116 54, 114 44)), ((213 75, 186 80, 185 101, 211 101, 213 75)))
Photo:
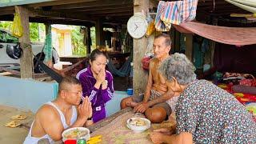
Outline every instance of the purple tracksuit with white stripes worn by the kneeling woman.
POLYGON ((102 90, 102 86, 99 89, 94 87, 96 79, 90 66, 86 69, 80 70, 77 74, 78 80, 82 83, 82 96, 88 96, 93 108, 93 121, 106 118, 105 104, 110 101, 114 96, 113 76, 106 70, 107 88, 102 90))

